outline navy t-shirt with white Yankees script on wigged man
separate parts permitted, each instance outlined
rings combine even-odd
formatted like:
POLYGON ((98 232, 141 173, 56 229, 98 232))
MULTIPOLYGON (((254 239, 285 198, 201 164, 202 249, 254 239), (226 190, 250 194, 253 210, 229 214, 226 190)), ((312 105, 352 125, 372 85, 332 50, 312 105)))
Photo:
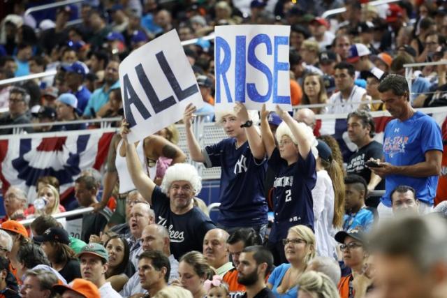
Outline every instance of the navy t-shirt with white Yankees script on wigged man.
POLYGON ((216 228, 198 207, 185 214, 174 214, 170 211, 168 196, 161 192, 159 186, 155 186, 152 192, 152 209, 156 224, 168 229, 170 252, 177 260, 189 251, 202 251, 203 237, 208 230, 216 228))

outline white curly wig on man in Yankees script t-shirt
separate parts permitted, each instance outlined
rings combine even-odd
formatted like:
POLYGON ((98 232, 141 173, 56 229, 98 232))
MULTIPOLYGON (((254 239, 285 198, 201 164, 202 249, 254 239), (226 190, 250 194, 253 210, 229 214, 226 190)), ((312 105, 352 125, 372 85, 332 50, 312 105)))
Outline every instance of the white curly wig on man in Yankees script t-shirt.
POLYGON ((173 184, 174 181, 188 181, 191 184, 195 195, 198 195, 202 189, 202 177, 198 175, 196 167, 189 163, 176 163, 175 165, 168 167, 168 170, 166 170, 165 176, 163 177, 163 181, 161 181, 161 191, 167 195, 170 185, 173 184))

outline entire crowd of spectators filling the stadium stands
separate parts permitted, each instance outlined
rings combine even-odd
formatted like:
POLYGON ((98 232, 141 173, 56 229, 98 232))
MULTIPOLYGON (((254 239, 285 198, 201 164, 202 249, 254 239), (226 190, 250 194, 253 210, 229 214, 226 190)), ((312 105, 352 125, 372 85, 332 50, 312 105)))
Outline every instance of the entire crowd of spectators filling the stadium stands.
POLYGON ((82 169, 72 201, 51 176, 34 202, 10 186, 0 297, 447 297, 446 127, 416 110, 447 104, 447 68, 404 77, 405 64, 446 61, 447 1, 85 0, 25 13, 47 2, 0 6, 0 81, 56 70, 0 85, 0 134, 122 117, 120 61, 173 29, 198 38, 184 51, 205 106, 184 110, 185 152, 174 125, 132 144, 126 121, 113 123, 105 173, 82 169), (291 26, 295 113, 214 111, 214 42, 203 37, 237 24, 291 26), (381 143, 370 112, 385 110, 381 143), (196 113, 228 137, 201 148, 196 113), (353 154, 318 135, 316 114, 346 119, 353 154), (221 167, 213 220, 188 159, 221 167), (94 211, 53 217, 84 207, 94 211))

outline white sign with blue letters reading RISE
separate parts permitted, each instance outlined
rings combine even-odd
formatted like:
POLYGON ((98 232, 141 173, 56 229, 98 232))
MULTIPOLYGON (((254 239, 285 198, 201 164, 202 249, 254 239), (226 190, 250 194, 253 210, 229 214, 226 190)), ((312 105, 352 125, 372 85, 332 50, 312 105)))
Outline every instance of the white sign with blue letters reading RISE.
POLYGON ((236 101, 247 109, 280 105, 292 110, 288 64, 289 26, 240 25, 215 27, 214 68, 216 110, 236 101))

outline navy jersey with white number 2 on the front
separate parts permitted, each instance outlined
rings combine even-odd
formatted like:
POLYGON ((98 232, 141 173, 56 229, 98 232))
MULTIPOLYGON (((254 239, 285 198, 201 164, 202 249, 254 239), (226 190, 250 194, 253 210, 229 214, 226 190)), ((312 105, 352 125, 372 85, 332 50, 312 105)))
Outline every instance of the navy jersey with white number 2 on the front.
POLYGON ((306 159, 301 156, 296 163, 287 165, 275 148, 268 166, 277 173, 273 182, 274 221, 269 241, 277 243, 287 237, 288 229, 294 225, 307 225, 314 229, 314 202, 312 188, 316 184, 316 161, 309 152, 306 159))

